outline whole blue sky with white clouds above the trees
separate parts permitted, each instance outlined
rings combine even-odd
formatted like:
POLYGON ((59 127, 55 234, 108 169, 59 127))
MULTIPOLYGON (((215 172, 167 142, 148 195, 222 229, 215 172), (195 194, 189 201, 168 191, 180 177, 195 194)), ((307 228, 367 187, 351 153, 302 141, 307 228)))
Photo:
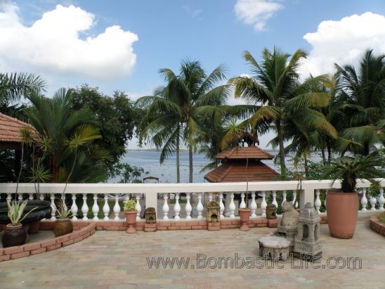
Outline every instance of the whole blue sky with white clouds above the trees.
POLYGON ((274 46, 304 49, 304 75, 357 65, 366 49, 385 53, 385 0, 0 0, 0 35, 1 71, 41 75, 47 96, 89 84, 136 100, 184 59, 223 63, 228 78, 252 75, 243 51, 274 46))

